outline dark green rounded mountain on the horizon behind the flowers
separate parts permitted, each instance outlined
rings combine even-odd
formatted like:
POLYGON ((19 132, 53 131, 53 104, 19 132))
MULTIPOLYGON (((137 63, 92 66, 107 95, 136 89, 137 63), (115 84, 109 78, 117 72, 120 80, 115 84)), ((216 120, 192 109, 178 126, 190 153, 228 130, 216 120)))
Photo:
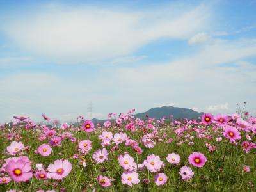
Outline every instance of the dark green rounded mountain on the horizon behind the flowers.
POLYGON ((138 118, 142 118, 142 117, 145 117, 145 115, 148 115, 149 117, 156 118, 156 119, 163 118, 163 116, 165 116, 166 118, 169 118, 170 115, 173 115, 174 119, 180 119, 180 118, 196 119, 202 116, 203 113, 198 113, 188 108, 163 106, 160 108, 151 108, 144 113, 137 113, 134 116, 138 118))

